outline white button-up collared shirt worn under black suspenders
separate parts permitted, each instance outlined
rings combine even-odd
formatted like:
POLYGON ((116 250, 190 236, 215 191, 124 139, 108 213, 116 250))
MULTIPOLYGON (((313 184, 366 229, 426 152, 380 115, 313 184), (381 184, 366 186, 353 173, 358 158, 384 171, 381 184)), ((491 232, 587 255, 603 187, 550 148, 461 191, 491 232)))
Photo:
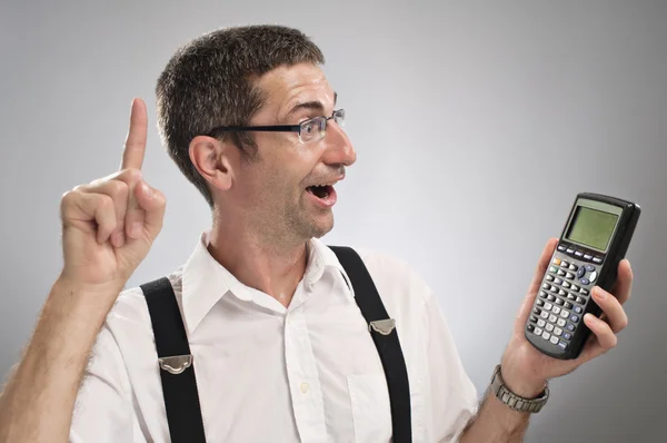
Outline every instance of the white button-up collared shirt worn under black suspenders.
MULTIPOLYGON (((208 253, 209 234, 169 276, 181 309, 208 442, 388 442, 387 382, 338 258, 309 243, 288 308, 208 253)), ((396 328, 415 442, 455 442, 477 412, 447 323, 405 263, 361 255, 396 328)), ((153 333, 140 288, 125 291, 94 345, 70 442, 169 442, 153 333)))

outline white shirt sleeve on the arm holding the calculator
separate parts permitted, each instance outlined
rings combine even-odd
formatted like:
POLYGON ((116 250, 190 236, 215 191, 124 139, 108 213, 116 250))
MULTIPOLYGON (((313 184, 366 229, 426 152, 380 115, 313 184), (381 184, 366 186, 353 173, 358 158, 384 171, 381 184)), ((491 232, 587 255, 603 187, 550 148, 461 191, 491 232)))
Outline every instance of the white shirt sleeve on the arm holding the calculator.
POLYGON ((468 377, 454 337, 437 301, 426 301, 428 367, 432 442, 458 442, 469 420, 477 414, 479 398, 468 377))

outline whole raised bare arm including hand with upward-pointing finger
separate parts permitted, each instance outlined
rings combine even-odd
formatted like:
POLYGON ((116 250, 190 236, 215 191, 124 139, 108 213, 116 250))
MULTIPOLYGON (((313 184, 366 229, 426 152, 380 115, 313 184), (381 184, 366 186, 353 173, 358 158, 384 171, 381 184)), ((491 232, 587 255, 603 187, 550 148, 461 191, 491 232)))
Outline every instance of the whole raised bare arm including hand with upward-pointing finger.
POLYGON ((62 197, 63 268, 0 394, 0 443, 67 442, 91 347, 162 228, 165 197, 141 177, 146 105, 132 102, 121 170, 62 197))

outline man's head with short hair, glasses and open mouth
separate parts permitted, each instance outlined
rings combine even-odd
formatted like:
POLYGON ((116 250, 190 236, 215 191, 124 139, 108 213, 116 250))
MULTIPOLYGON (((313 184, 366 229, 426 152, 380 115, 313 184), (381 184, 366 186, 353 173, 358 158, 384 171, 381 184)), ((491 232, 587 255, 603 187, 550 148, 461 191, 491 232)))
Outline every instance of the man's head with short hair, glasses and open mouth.
POLYGON ((260 235, 308 238, 331 229, 330 206, 307 188, 341 178, 356 154, 335 119, 323 137, 306 142, 297 132, 219 128, 330 117, 336 93, 323 61, 298 30, 228 28, 179 49, 158 80, 158 122, 170 156, 211 207, 260 235))

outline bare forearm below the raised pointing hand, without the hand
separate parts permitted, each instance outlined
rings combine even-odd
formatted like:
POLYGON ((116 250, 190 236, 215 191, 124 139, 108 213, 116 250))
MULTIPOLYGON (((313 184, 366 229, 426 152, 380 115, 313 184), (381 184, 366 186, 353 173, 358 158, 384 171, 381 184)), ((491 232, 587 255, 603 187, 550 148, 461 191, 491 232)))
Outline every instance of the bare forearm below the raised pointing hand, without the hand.
POLYGON ((67 441, 77 392, 106 315, 90 303, 104 297, 92 295, 60 279, 53 285, 23 360, 0 396, 0 442, 67 441))

